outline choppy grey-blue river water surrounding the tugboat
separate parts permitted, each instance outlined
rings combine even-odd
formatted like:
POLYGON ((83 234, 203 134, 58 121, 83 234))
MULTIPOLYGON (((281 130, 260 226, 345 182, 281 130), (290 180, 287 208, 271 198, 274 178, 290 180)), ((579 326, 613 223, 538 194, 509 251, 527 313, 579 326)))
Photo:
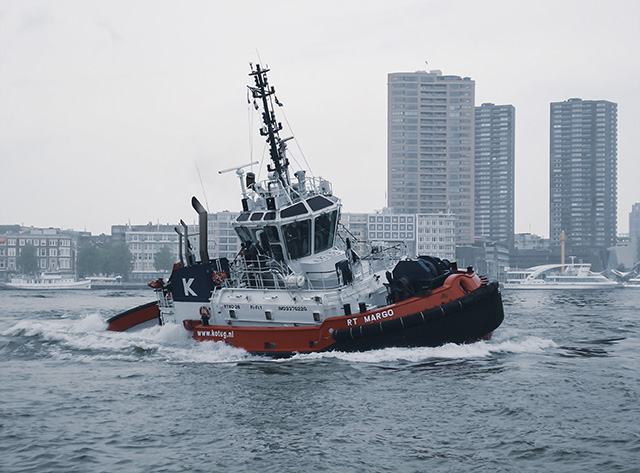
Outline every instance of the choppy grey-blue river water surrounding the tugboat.
POLYGON ((271 360, 149 291, 0 291, 2 472, 640 471, 640 290, 505 291, 488 342, 271 360))

